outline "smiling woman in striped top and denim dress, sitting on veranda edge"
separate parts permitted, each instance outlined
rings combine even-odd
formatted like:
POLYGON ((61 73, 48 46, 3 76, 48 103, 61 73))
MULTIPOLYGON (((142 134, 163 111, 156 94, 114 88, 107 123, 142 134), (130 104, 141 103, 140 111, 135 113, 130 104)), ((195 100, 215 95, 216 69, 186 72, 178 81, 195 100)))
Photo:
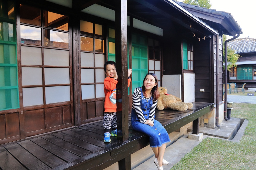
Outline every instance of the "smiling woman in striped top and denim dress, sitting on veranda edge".
POLYGON ((155 153, 154 163, 158 170, 163 170, 162 165, 169 162, 163 159, 166 143, 170 142, 167 131, 155 120, 155 108, 159 93, 158 82, 154 73, 148 73, 142 87, 134 89, 132 95, 131 123, 134 130, 149 136, 150 147, 155 153))

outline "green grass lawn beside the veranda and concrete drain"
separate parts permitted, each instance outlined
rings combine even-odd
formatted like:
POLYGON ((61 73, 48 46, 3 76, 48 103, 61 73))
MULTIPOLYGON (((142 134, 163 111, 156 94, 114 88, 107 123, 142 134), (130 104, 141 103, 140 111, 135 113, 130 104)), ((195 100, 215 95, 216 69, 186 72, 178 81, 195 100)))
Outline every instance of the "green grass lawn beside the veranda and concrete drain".
POLYGON ((256 169, 256 104, 233 103, 232 108, 231 117, 249 120, 240 142, 206 138, 171 170, 256 169))

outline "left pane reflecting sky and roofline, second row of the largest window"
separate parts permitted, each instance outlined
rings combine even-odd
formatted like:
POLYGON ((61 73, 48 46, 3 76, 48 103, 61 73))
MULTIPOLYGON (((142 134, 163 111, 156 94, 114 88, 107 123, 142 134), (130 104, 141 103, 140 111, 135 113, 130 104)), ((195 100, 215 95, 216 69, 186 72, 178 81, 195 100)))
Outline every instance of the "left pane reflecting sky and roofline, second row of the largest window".
POLYGON ((41 45, 41 28, 20 25, 20 42, 22 44, 41 45))

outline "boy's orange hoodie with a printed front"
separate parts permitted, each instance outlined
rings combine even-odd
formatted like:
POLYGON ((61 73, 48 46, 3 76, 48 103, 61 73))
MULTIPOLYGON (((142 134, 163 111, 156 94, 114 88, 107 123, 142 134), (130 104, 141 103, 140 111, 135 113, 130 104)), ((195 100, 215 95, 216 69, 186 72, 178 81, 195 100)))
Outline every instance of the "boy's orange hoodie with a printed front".
MULTIPOLYGON (((104 80, 104 112, 116 112, 116 84, 117 80, 111 77, 106 77, 104 80)), ((128 79, 128 87, 130 86, 131 79, 128 79)))

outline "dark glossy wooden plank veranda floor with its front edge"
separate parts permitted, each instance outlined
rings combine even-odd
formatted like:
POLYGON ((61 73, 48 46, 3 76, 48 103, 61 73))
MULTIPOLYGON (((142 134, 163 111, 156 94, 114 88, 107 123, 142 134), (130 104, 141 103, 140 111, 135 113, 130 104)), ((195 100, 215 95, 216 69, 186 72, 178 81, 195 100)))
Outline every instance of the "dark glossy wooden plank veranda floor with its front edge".
MULTIPOLYGON (((187 111, 156 110, 168 133, 211 111, 213 103, 194 102, 187 111)), ((149 144, 143 133, 129 129, 129 139, 103 142, 103 120, 29 138, 0 147, 0 169, 103 169, 149 144)))

